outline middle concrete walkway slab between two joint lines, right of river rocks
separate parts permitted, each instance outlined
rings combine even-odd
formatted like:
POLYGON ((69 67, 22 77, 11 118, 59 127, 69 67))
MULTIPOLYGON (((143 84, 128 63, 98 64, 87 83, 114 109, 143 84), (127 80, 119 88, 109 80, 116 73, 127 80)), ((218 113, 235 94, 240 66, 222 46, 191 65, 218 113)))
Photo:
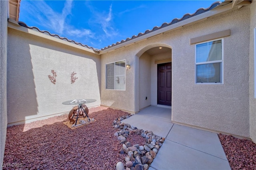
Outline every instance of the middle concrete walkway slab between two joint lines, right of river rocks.
POLYGON ((174 124, 166 139, 227 160, 216 133, 174 124))

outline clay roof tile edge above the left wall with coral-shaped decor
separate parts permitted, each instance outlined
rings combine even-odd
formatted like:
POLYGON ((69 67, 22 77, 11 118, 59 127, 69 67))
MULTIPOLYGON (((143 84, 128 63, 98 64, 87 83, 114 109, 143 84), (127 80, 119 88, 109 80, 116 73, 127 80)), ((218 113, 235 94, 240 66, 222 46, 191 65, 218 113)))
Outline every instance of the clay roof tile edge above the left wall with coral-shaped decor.
POLYGON ((68 41, 68 42, 70 42, 70 43, 74 43, 74 44, 76 44, 76 45, 80 45, 80 46, 82 46, 82 47, 86 47, 86 48, 88 48, 88 49, 92 49, 92 50, 94 50, 94 51, 100 51, 99 49, 90 47, 90 46, 88 46, 88 45, 84 45, 84 44, 82 44, 82 43, 77 43, 76 41, 67 39, 66 37, 60 37, 60 36, 57 35, 57 34, 51 34, 49 31, 41 31, 38 27, 30 27, 30 26, 28 26, 26 23, 24 23, 24 22, 22 22, 22 21, 18 21, 18 24, 19 24, 20 26, 26 27, 26 28, 28 28, 28 29, 32 29, 32 30, 35 30, 35 31, 39 31, 40 33, 44 33, 44 34, 50 35, 50 36, 52 36, 52 37, 56 37, 56 38, 58 38, 58 39, 62 39, 62 40, 64 40, 64 41, 68 41))

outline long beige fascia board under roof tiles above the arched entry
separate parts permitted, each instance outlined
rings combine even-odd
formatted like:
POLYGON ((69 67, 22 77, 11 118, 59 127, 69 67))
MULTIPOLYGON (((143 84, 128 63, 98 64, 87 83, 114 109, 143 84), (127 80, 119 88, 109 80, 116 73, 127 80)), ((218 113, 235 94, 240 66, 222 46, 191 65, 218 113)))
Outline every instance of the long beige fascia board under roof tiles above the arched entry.
POLYGON ((200 20, 203 20, 203 19, 207 19, 207 18, 209 18, 211 16, 216 16, 216 15, 222 14, 222 13, 227 12, 229 10, 232 10, 232 4, 228 4, 228 5, 225 5, 225 6, 217 7, 216 9, 210 10, 208 12, 204 12, 203 14, 199 14, 197 16, 193 16, 193 17, 188 18, 186 20, 179 21, 179 22, 174 23, 172 25, 169 25, 167 27, 163 27, 163 28, 158 29, 156 31, 153 31, 151 33, 147 33, 145 35, 142 35, 141 37, 138 37, 138 38, 132 39, 130 41, 126 41, 124 43, 121 43, 119 45, 116 45, 114 47, 110 47, 108 49, 102 50, 102 51, 100 51, 100 55, 104 54, 104 53, 107 53, 107 52, 110 52, 110 51, 114 51, 116 49, 122 48, 122 47, 127 46, 127 45, 131 45, 133 43, 137 43, 137 42, 142 41, 144 39, 148 39, 150 37, 154 37, 156 35, 160 35, 160 34, 162 34, 164 32, 171 31, 173 29, 176 29, 176 28, 179 28, 179 27, 182 27, 182 26, 185 26, 185 25, 192 24, 192 23, 194 23, 196 21, 200 21, 200 20))

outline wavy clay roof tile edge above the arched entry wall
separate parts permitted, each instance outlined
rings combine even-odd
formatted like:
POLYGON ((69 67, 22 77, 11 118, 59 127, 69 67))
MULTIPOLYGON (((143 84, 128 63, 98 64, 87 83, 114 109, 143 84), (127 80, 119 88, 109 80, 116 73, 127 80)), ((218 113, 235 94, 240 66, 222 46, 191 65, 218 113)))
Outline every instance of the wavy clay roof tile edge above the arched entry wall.
POLYGON ((100 51, 105 50, 105 49, 109 49, 109 48, 114 47, 114 46, 116 46, 116 45, 119 45, 119 44, 121 44, 121 43, 124 43, 124 42, 130 41, 130 40, 132 40, 132 39, 141 37, 141 36, 143 36, 143 35, 145 35, 145 34, 151 33, 151 32, 153 32, 153 31, 156 31, 156 30, 161 29, 161 28, 163 28, 163 27, 167 27, 167 26, 172 25, 172 24, 174 24, 174 23, 177 23, 177 22, 186 20, 186 19, 191 18, 191 17, 193 17, 193 16, 196 16, 196 15, 198 15, 198 14, 202 14, 202 13, 204 13, 204 12, 210 11, 210 10, 212 10, 213 8, 215 8, 216 6, 218 6, 218 5, 220 5, 220 4, 221 4, 221 2, 214 2, 209 8, 206 8, 206 9, 205 9, 205 8, 199 8, 198 10, 196 10, 196 12, 195 12, 194 14, 185 14, 185 15, 184 15, 182 18, 180 18, 180 19, 174 18, 170 23, 166 23, 166 22, 165 22, 165 23, 163 23, 160 27, 157 27, 157 26, 156 26, 156 27, 154 27, 154 28, 151 29, 151 30, 147 29, 144 33, 139 33, 138 35, 133 35, 131 38, 126 38, 125 40, 122 40, 121 42, 117 42, 117 43, 115 43, 115 44, 109 45, 108 47, 104 47, 104 48, 100 49, 100 51))

